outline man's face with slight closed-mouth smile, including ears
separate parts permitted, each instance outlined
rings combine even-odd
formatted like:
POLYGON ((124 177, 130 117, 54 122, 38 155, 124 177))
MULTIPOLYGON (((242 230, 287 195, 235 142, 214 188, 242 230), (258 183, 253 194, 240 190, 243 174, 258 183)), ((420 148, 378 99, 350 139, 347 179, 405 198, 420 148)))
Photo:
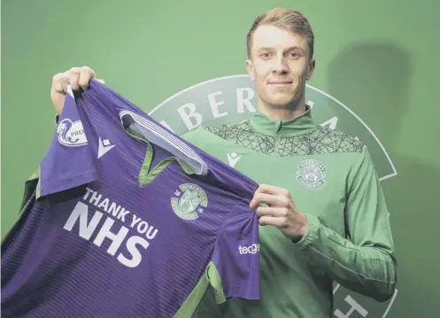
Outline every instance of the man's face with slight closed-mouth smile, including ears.
POLYGON ((257 28, 252 36, 251 58, 246 69, 266 105, 286 107, 304 97, 305 81, 312 77, 307 39, 270 25, 257 28))

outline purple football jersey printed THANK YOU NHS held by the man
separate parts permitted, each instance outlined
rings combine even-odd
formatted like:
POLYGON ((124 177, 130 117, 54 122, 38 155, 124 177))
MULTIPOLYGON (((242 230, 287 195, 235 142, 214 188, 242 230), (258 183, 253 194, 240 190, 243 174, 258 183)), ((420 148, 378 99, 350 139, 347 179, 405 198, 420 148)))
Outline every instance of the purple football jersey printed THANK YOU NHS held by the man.
POLYGON ((189 317, 210 284, 259 299, 256 188, 92 80, 2 244, 2 316, 189 317))

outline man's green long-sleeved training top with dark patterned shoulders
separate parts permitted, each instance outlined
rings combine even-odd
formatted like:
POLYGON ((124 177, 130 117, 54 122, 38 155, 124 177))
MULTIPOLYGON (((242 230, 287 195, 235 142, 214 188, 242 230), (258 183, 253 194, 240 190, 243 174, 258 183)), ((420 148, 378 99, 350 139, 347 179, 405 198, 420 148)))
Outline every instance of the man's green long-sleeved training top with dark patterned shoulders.
POLYGON ((259 183, 290 191, 307 217, 297 243, 260 226, 262 299, 219 306, 206 295, 198 317, 331 317, 333 282, 378 301, 390 299, 397 261, 390 214, 367 147, 313 122, 310 108, 294 120, 200 126, 182 136, 259 183))

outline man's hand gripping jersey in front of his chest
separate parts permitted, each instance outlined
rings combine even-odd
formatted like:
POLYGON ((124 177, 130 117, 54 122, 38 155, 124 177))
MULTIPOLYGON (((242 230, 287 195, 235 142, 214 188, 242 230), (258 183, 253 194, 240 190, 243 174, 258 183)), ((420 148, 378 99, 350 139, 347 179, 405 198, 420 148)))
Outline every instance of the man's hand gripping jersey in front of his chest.
POLYGON ((299 240, 307 232, 307 218, 298 211, 289 190, 261 184, 250 207, 257 210, 260 225, 273 225, 290 239, 299 240))

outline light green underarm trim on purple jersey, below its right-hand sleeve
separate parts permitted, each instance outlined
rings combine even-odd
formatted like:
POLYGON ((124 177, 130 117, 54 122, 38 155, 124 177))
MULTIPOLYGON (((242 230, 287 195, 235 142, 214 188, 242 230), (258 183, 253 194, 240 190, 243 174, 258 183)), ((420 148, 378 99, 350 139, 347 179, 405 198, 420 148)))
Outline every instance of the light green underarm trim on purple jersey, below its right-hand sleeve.
POLYGON ((226 297, 223 292, 219 270, 215 267, 212 261, 206 267, 205 275, 200 278, 196 287, 191 291, 188 298, 185 299, 179 308, 179 311, 174 315, 174 318, 192 317, 193 314, 196 313, 197 306, 204 298, 205 293, 210 286, 214 291, 216 303, 224 303, 226 301, 226 297))

